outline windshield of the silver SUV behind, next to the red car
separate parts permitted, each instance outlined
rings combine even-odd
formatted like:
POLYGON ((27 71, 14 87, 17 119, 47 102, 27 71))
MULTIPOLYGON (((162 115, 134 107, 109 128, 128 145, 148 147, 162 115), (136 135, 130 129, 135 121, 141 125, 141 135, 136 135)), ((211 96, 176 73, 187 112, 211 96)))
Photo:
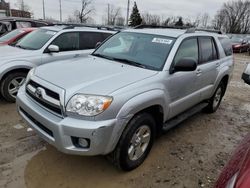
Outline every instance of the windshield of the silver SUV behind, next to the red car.
POLYGON ((39 50, 41 49, 54 35, 55 31, 47 29, 38 29, 25 36, 19 41, 16 46, 28 49, 28 50, 39 50))

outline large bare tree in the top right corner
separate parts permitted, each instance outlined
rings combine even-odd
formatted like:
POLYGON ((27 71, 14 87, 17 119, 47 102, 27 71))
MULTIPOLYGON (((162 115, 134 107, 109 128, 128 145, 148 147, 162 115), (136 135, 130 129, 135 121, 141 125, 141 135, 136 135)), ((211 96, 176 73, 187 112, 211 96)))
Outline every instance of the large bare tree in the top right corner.
POLYGON ((224 3, 213 20, 216 29, 228 33, 250 32, 250 1, 237 0, 224 3))

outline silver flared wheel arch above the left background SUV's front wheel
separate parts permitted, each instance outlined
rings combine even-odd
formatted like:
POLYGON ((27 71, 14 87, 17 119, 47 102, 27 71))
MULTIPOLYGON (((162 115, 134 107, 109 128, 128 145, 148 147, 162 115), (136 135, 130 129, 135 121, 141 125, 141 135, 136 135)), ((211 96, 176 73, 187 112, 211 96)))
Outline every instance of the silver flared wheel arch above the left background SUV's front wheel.
POLYGON ((13 70, 16 69, 32 69, 35 65, 28 61, 12 61, 9 63, 5 63, 0 67, 0 80, 2 77, 13 70))

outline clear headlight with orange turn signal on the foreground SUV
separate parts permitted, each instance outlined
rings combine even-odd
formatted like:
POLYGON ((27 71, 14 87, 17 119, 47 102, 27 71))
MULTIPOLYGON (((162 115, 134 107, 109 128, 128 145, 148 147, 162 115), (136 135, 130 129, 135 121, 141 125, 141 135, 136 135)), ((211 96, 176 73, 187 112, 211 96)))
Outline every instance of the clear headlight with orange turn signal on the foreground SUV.
POLYGON ((77 94, 69 100, 66 111, 82 116, 96 116, 105 111, 112 100, 108 96, 77 94))

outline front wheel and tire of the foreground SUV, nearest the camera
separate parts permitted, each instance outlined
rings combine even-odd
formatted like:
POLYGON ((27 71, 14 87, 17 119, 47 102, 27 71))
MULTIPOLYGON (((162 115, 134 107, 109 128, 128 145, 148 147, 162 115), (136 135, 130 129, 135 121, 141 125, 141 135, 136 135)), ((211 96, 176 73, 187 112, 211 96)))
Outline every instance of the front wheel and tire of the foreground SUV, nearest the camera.
POLYGON ((116 149, 107 156, 109 161, 123 171, 139 167, 153 146, 155 134, 154 118, 148 113, 136 115, 125 128, 116 149))

